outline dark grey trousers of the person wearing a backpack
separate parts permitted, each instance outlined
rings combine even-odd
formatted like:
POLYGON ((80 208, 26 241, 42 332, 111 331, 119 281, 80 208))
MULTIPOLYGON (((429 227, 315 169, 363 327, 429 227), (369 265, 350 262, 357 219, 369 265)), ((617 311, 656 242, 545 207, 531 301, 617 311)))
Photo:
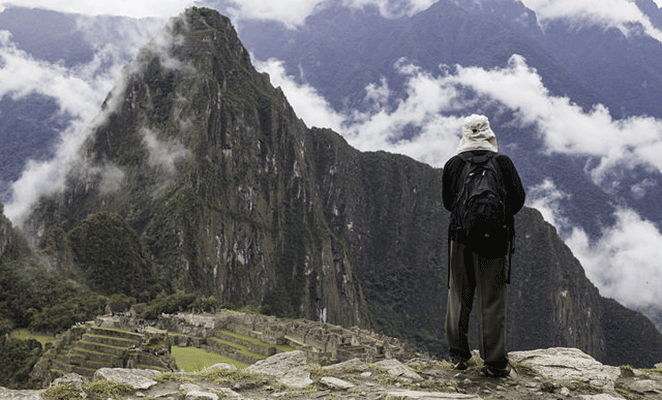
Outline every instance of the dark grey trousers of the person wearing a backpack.
POLYGON ((446 340, 451 358, 471 358, 469 314, 478 292, 478 348, 486 365, 505 368, 508 257, 485 258, 450 242, 446 340))

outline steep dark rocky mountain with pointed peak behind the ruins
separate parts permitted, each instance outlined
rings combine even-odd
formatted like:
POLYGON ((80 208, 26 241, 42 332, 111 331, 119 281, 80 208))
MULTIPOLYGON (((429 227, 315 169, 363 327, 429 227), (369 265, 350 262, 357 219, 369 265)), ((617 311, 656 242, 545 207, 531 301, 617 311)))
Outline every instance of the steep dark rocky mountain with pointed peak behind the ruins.
MULTIPOLYGON (((306 127, 227 18, 194 8, 173 20, 127 66, 91 130, 66 188, 26 223, 33 237, 109 212, 135 230, 170 290, 368 327, 445 354, 441 170, 306 127)), ((538 212, 516 223, 509 347, 616 353, 605 321, 633 313, 604 306, 538 212)), ((659 362, 659 332, 634 325, 647 345, 619 349, 619 363, 659 362)))

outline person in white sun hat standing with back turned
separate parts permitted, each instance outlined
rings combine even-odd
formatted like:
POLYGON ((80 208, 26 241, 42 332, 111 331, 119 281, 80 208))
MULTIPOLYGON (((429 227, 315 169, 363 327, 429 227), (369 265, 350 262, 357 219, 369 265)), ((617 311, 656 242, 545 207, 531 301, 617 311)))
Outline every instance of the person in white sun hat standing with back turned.
MULTIPOLYGON (((478 293, 478 345, 485 362, 481 372, 490 377, 510 374, 506 352, 506 305, 510 283, 510 256, 514 240, 513 216, 524 206, 525 192, 511 159, 498 153, 497 140, 487 117, 471 115, 464 120, 462 139, 455 156, 444 166, 442 198, 451 212, 449 224, 448 307, 446 339, 449 355, 457 370, 468 368, 469 315, 474 293, 478 293), (493 160, 490 160, 493 158, 493 160), (475 163, 492 165, 504 197, 503 230, 483 235, 498 243, 487 246, 482 238, 467 232, 467 218, 461 203, 466 198, 468 171, 475 163), (489 247, 489 248, 488 248, 489 247)), ((496 197, 496 196, 495 196, 496 197)), ((490 242, 491 243, 491 242, 490 242)))

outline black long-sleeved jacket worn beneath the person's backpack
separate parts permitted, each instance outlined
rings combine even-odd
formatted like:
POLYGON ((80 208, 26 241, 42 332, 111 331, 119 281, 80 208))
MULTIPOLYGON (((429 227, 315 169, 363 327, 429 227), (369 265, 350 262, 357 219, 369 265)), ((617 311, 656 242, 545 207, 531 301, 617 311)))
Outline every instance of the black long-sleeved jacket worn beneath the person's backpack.
MULTIPOLYGON (((469 151, 467 154, 480 156, 487 152, 488 151, 486 150, 478 150, 469 151)), ((517 214, 517 212, 524 206, 526 194, 524 193, 524 187, 522 186, 522 181, 520 180, 519 174, 517 173, 515 165, 511 159, 504 154, 498 154, 496 156, 496 161, 501 170, 501 177, 506 189, 508 228, 512 238, 515 234, 515 220, 513 216, 517 214)), ((451 159, 448 160, 444 166, 441 195, 444 201, 444 207, 451 212, 453 211, 455 198, 460 194, 464 164, 465 161, 459 155, 455 155, 454 157, 451 157, 451 159)), ((451 216, 451 221, 452 220, 453 217, 451 216)), ((454 231, 451 226, 449 226, 449 238, 463 241, 463 238, 459 232, 454 231)))

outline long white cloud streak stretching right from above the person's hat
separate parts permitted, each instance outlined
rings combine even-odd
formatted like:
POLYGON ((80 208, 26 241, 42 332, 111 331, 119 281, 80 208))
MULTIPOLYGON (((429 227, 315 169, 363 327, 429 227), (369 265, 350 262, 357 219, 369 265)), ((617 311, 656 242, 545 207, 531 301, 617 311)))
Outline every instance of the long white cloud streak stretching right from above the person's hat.
POLYGON ((662 121, 640 116, 614 120, 602 105, 585 112, 567 97, 551 96, 521 56, 511 57, 505 68, 458 67, 450 79, 515 111, 522 127, 539 132, 548 152, 595 157, 598 163, 590 173, 597 184, 616 168, 662 171, 662 121))

